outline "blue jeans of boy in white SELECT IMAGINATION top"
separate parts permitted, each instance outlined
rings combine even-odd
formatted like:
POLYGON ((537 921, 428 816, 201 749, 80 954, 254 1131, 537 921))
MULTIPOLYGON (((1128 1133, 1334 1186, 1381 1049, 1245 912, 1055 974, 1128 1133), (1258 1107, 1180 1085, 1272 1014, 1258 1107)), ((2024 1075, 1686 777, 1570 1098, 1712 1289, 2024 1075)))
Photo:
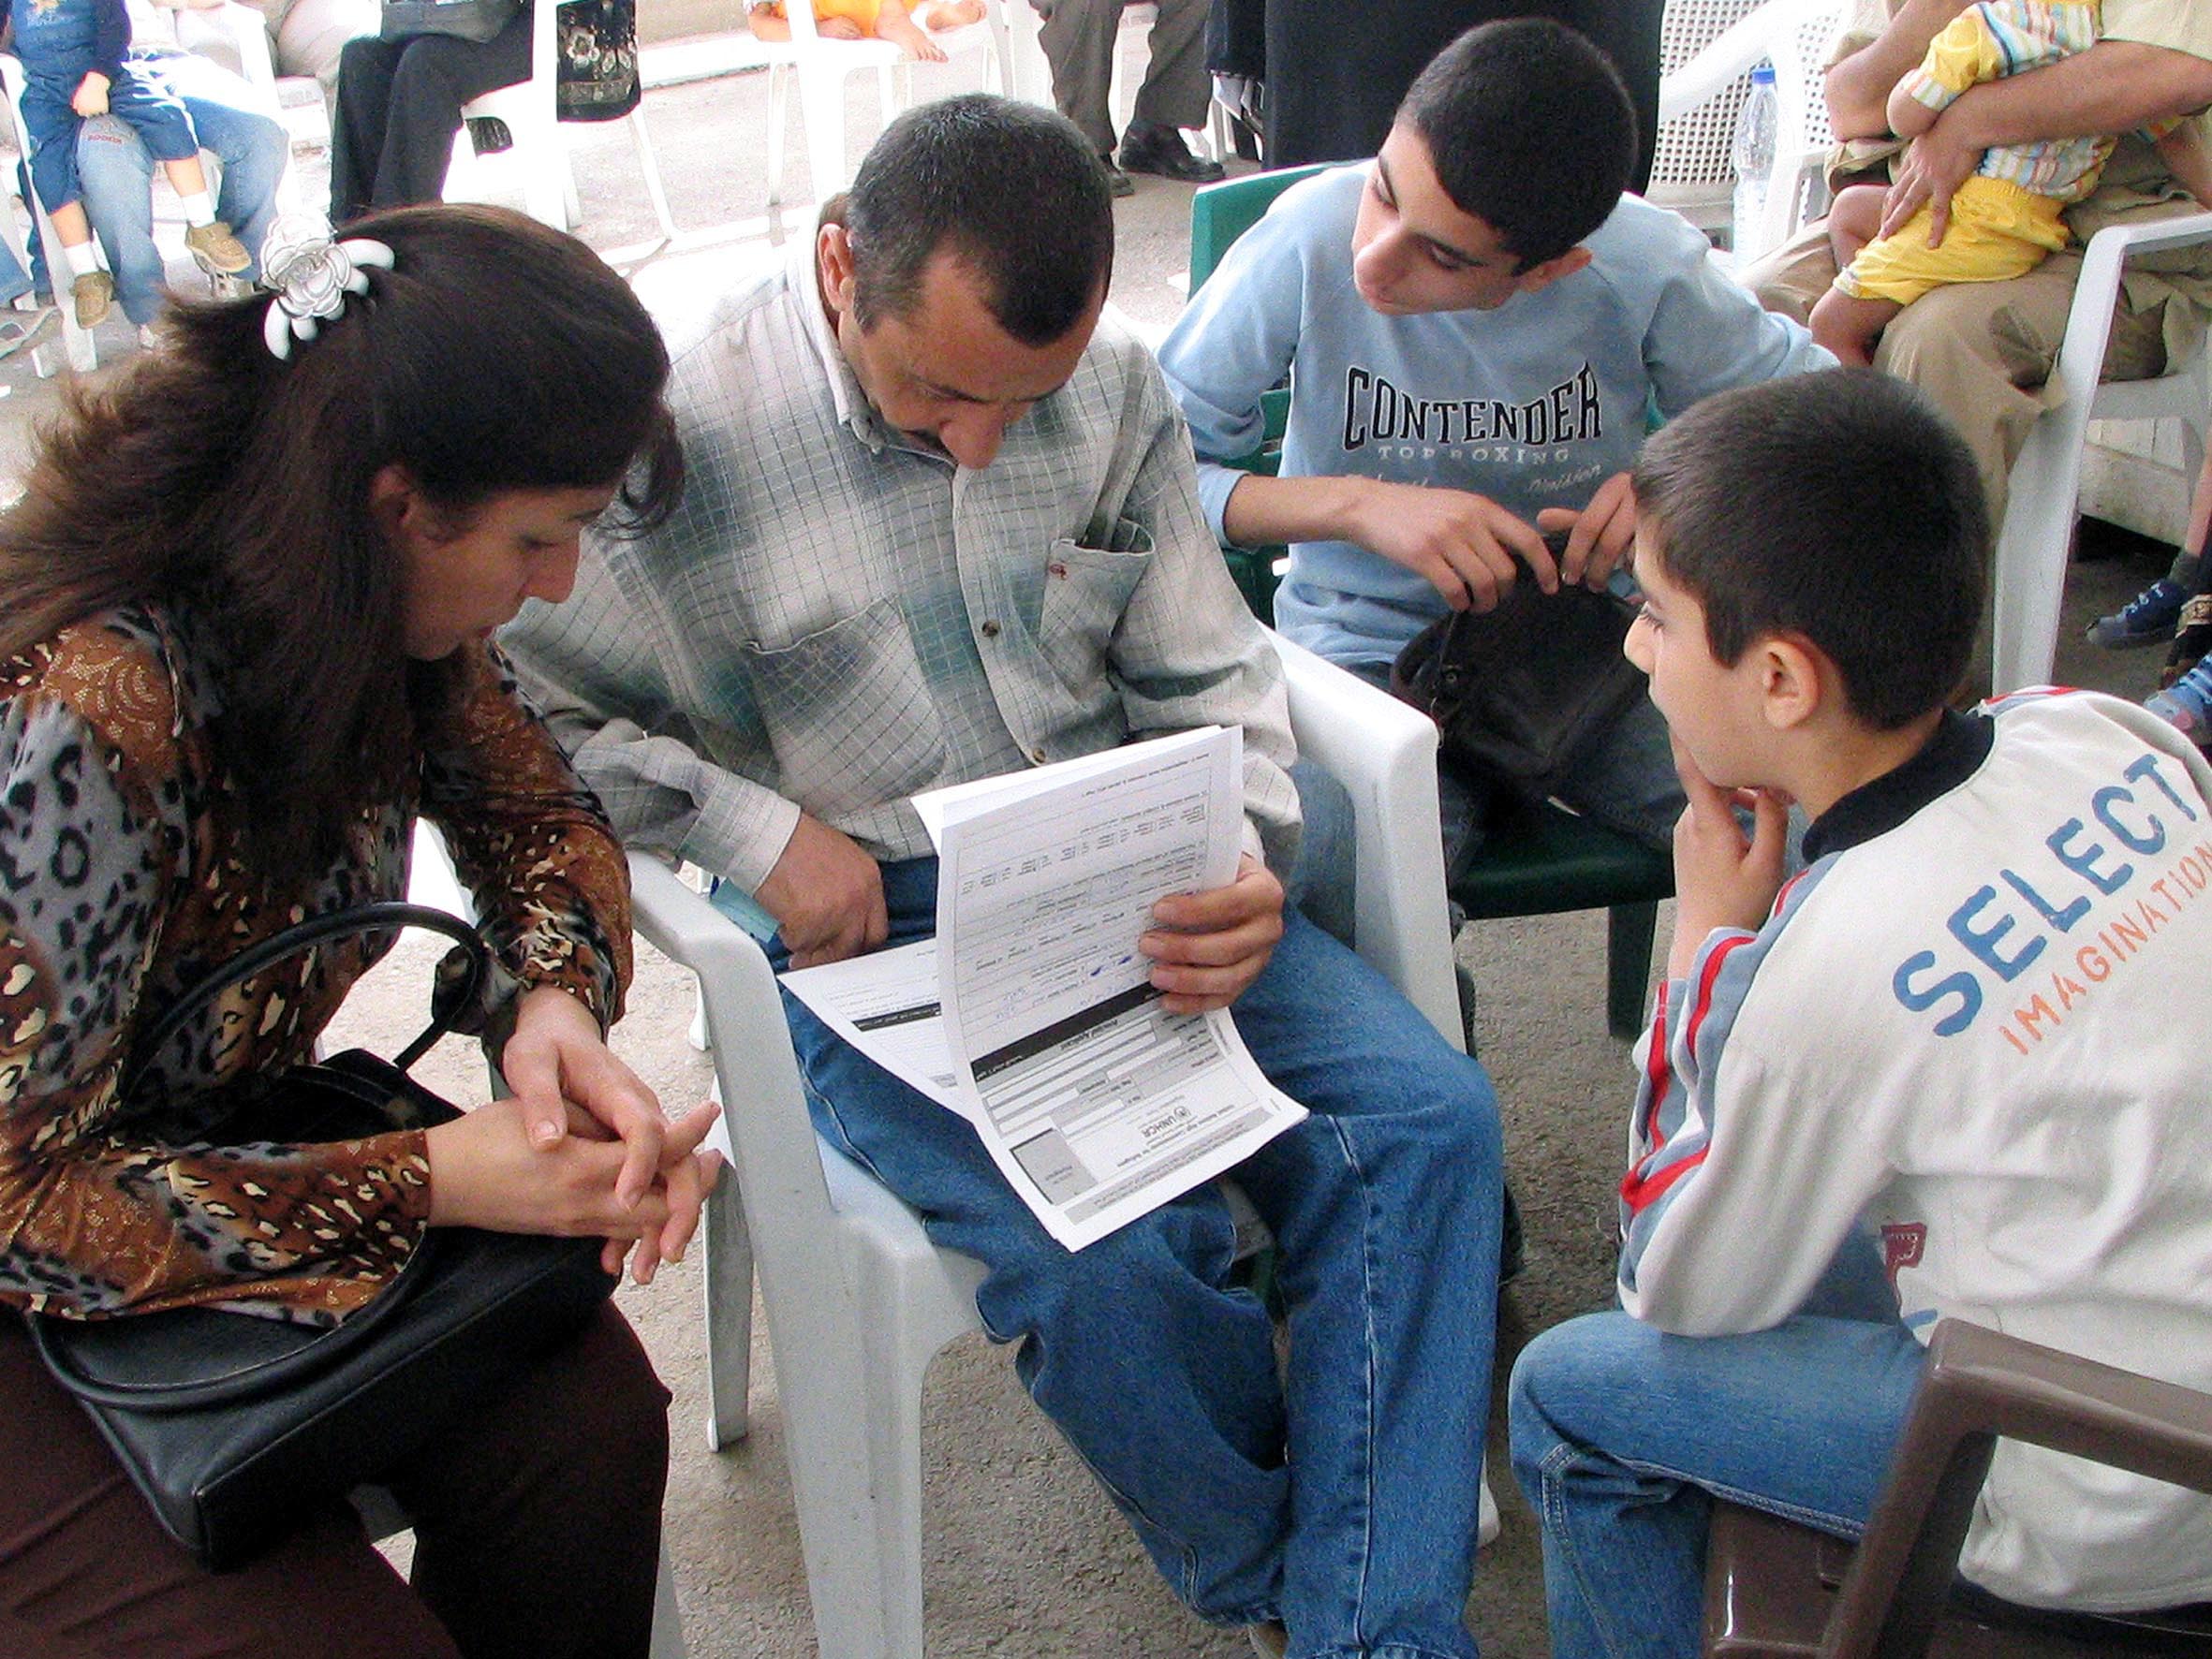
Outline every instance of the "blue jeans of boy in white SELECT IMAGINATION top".
POLYGON ((1522 1349, 1513 1473, 1544 1528, 1553 1659, 1699 1652, 1712 1498, 1858 1537, 1924 1354, 1871 1256, 1854 1241, 1767 1332, 1610 1312, 1522 1349))

